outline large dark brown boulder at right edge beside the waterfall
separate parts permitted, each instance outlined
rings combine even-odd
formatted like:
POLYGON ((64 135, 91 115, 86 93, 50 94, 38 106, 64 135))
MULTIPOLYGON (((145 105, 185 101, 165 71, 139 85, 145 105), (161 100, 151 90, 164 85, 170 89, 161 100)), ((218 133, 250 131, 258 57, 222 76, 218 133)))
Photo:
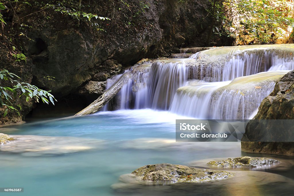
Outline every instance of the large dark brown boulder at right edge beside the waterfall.
MULTIPOLYGON (((253 119, 294 119, 294 71, 290 71, 283 76, 275 85, 275 89, 269 96, 261 102, 258 113, 253 119)), ((271 130, 277 126, 276 121, 268 121, 268 128, 271 130)), ((259 134, 266 134, 269 138, 293 137, 293 131, 289 127, 278 125, 279 131, 264 132, 264 128, 256 125, 254 120, 251 120, 246 127, 246 137, 241 140, 242 151, 250 153, 267 153, 277 155, 294 156, 293 142, 260 142, 250 139, 258 139, 259 134)))

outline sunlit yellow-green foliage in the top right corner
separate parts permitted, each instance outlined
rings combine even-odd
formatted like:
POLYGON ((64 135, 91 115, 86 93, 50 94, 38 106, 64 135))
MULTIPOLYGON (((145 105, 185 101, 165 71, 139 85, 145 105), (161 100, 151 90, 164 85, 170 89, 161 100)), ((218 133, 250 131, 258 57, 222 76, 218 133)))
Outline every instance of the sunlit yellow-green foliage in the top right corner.
POLYGON ((232 36, 242 44, 275 43, 278 37, 293 36, 293 9, 288 0, 216 0, 213 33, 232 36), (289 32, 290 30, 290 32, 289 32))

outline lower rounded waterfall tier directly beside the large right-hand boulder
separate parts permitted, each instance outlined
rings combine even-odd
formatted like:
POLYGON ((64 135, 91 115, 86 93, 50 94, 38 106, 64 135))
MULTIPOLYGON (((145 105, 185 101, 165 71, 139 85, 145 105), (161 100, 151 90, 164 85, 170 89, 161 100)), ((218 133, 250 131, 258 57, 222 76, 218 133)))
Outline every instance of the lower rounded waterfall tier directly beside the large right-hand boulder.
POLYGON ((288 71, 269 71, 233 81, 190 83, 178 88, 170 111, 198 119, 248 119, 288 71), (220 109, 221 108, 221 109, 220 109))

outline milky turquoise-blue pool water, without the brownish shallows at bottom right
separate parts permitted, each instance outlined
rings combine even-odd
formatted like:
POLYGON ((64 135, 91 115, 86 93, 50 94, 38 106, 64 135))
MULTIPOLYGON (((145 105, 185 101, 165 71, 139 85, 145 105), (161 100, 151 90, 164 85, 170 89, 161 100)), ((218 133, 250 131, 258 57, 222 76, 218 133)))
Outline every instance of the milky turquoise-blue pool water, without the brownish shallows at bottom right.
MULTIPOLYGON (((129 195, 111 185, 138 167, 156 163, 187 165, 195 160, 242 155, 237 142, 176 143, 175 119, 180 118, 187 119, 166 111, 118 110, 0 127, 0 133, 9 135, 70 136, 79 140, 64 138, 69 146, 91 146, 75 153, 0 151, 0 187, 24 188, 23 193, 0 195, 129 195), (96 140, 97 144, 93 143, 96 140)), ((150 194, 147 190, 138 195, 150 194)), ((177 195, 186 192, 181 190, 177 195)))

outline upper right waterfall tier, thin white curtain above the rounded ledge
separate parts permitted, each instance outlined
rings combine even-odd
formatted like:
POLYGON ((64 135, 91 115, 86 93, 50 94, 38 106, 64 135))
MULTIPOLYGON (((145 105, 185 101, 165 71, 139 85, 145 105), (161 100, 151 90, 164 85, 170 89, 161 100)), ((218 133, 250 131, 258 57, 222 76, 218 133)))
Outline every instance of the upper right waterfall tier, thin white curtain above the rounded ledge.
MULTIPOLYGON (((221 48, 217 48, 218 50, 221 48)), ((216 49, 211 49, 216 50, 216 49)), ((207 52, 207 51, 204 51, 207 52)), ((201 61, 201 52, 195 53, 190 58, 201 61)), ((260 50, 256 53, 241 52, 236 49, 230 51, 231 58, 224 63, 213 59, 212 63, 192 67, 192 78, 220 82, 229 81, 241 76, 249 76, 264 71, 293 70, 293 57, 285 56, 284 52, 260 50)))

